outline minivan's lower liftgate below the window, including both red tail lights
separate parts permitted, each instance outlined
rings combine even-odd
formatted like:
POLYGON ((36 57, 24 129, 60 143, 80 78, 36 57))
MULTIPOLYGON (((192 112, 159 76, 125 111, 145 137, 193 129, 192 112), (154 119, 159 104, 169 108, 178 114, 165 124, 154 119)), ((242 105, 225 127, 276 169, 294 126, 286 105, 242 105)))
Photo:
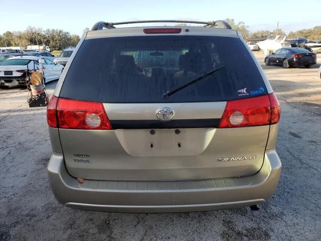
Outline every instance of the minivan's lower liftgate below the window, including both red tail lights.
POLYGON ((269 126, 278 122, 279 110, 273 93, 227 102, 166 104, 53 97, 48 124, 59 128, 66 167, 74 177, 208 179, 259 171, 269 126))

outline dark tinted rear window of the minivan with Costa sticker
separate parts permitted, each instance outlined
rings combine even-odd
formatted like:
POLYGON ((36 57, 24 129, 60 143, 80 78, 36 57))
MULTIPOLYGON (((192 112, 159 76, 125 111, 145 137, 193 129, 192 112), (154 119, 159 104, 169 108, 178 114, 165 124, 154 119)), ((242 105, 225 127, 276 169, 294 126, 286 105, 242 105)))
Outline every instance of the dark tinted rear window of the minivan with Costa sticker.
POLYGON ((173 35, 85 40, 60 92, 105 103, 225 101, 263 94, 262 76, 240 39, 173 35), (165 91, 222 65, 163 98, 165 91))

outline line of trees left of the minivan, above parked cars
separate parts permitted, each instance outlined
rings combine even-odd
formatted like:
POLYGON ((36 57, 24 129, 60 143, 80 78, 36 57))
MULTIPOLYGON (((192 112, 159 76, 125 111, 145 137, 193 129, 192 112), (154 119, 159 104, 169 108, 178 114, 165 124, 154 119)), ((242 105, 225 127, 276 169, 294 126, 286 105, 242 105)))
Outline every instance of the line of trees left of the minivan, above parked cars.
POLYGON ((7 31, 0 35, 0 46, 11 47, 28 45, 46 45, 54 50, 62 50, 67 46, 76 46, 80 38, 61 29, 47 29, 29 26, 25 31, 7 31))

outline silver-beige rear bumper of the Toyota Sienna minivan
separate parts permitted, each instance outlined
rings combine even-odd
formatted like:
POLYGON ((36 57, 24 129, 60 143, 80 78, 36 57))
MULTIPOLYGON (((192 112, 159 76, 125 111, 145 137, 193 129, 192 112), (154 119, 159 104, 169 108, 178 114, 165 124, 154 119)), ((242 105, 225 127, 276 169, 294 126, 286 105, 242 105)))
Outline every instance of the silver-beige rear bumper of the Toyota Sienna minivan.
POLYGON ((184 212, 249 206, 274 193, 281 172, 275 152, 265 153, 261 170, 248 177, 187 181, 97 181, 79 184, 53 153, 48 174, 56 199, 65 206, 114 212, 184 212))

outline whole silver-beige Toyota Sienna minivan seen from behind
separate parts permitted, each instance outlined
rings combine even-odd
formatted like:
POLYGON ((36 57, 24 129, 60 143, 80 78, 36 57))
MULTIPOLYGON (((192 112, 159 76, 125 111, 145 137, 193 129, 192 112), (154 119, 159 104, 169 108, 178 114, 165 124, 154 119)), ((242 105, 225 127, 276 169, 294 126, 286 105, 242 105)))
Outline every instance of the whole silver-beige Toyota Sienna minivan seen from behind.
POLYGON ((279 102, 237 31, 191 23, 204 27, 99 22, 84 34, 47 109, 60 203, 181 212, 272 196, 279 102))

